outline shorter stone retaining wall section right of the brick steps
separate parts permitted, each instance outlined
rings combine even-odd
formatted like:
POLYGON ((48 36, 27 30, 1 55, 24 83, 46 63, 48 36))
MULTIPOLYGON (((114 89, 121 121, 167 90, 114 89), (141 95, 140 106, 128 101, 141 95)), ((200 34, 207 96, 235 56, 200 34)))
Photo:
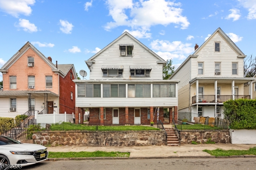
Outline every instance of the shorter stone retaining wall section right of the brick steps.
POLYGON ((181 130, 180 143, 191 144, 191 141, 205 143, 209 138, 215 143, 231 143, 228 130, 181 130))

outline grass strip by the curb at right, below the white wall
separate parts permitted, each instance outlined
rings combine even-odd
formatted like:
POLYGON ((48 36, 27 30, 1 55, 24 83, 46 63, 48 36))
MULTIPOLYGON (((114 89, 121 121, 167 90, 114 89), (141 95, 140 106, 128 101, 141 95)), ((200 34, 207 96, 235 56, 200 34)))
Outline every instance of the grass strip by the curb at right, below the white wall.
POLYGON ((250 148, 249 150, 223 150, 223 149, 215 149, 215 150, 203 150, 203 152, 207 152, 212 156, 233 156, 233 155, 256 155, 256 147, 250 148))

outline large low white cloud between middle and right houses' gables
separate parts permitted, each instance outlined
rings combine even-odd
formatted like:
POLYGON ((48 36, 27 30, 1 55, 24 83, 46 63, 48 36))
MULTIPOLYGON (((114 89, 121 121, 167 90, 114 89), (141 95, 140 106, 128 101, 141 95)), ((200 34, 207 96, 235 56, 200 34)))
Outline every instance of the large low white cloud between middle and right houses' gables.
POLYGON ((184 59, 188 54, 194 52, 194 48, 191 47, 190 43, 182 43, 181 41, 163 41, 155 40, 150 43, 153 50, 157 50, 157 55, 162 57, 164 60, 167 59, 184 59))

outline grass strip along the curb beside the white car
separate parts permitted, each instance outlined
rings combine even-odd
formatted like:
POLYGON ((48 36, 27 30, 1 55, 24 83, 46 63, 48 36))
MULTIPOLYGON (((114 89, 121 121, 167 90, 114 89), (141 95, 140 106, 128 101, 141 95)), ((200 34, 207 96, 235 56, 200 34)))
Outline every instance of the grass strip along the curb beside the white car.
POLYGON ((49 152, 48 158, 129 157, 129 152, 49 152))

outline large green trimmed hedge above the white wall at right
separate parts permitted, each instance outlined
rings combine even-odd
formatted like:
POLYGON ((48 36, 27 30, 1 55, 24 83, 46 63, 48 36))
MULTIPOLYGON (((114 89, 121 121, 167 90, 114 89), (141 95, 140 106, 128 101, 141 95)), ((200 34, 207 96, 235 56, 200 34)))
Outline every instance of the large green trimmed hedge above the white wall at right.
POLYGON ((231 129, 256 129, 256 100, 226 101, 223 115, 231 129))

